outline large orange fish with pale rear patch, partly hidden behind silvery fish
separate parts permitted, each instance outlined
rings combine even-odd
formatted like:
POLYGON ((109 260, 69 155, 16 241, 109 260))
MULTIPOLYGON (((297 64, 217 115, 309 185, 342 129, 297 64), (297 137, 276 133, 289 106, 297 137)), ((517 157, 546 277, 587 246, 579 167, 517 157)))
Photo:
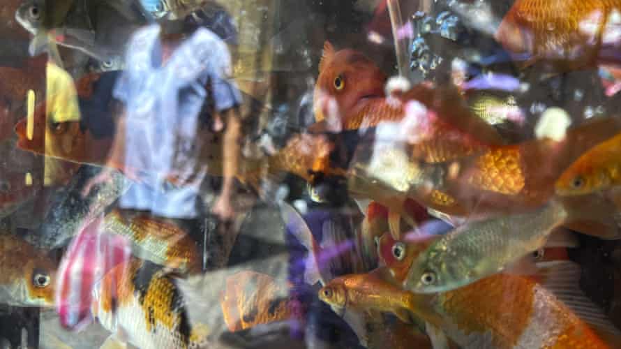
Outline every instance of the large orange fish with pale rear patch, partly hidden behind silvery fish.
MULTIPOLYGON (((394 276, 393 282, 402 283, 427 241, 396 242, 384 236, 386 239, 380 243, 381 258, 394 276)), ((567 279, 561 279, 561 287, 567 291, 567 279)), ((442 329, 461 346, 611 348, 552 292, 527 276, 495 274, 456 290, 413 295, 417 315, 442 329)))

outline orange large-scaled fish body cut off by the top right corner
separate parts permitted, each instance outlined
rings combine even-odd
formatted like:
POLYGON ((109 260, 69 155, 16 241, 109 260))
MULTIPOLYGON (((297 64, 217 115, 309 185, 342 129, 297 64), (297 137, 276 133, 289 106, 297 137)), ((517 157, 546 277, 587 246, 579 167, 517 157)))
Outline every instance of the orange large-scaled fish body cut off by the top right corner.
POLYGON ((618 43, 618 0, 518 0, 504 15, 495 39, 525 66, 553 62, 562 70, 614 59, 606 47, 618 43))

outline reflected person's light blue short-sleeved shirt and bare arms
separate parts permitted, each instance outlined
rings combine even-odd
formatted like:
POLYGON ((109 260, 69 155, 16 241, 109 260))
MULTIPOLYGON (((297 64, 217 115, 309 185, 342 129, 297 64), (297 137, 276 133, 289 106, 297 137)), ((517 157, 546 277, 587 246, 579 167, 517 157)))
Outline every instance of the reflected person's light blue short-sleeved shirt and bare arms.
POLYGON ((137 31, 128 46, 126 70, 114 88, 124 108, 108 161, 140 179, 119 206, 169 218, 196 218, 200 182, 207 172, 207 164, 198 159, 197 142, 205 141, 198 139, 198 131, 206 127, 205 115, 213 112, 212 119, 221 116, 227 124, 225 181, 214 206, 227 220, 234 214, 231 200, 241 128, 241 96, 227 79, 230 53, 223 40, 204 28, 175 43, 174 50, 167 44, 160 42, 158 25, 137 31), (183 179, 180 185, 170 185, 172 174, 183 179))

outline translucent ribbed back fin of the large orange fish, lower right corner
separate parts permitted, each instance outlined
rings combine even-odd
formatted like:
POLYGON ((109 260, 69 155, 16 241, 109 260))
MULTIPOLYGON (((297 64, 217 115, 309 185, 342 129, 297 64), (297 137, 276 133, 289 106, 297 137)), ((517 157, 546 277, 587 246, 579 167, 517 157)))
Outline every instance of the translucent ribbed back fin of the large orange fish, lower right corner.
POLYGON ((580 288, 581 267, 569 260, 539 262, 537 278, 547 290, 588 323, 601 339, 621 343, 621 331, 580 288))

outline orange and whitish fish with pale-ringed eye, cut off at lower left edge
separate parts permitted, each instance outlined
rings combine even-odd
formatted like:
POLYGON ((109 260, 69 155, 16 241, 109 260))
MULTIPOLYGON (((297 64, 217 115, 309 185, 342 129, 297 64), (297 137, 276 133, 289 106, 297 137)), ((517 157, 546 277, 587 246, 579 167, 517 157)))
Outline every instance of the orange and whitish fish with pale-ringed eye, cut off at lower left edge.
POLYGON ((0 294, 13 306, 53 306, 57 262, 8 232, 0 235, 0 294))

